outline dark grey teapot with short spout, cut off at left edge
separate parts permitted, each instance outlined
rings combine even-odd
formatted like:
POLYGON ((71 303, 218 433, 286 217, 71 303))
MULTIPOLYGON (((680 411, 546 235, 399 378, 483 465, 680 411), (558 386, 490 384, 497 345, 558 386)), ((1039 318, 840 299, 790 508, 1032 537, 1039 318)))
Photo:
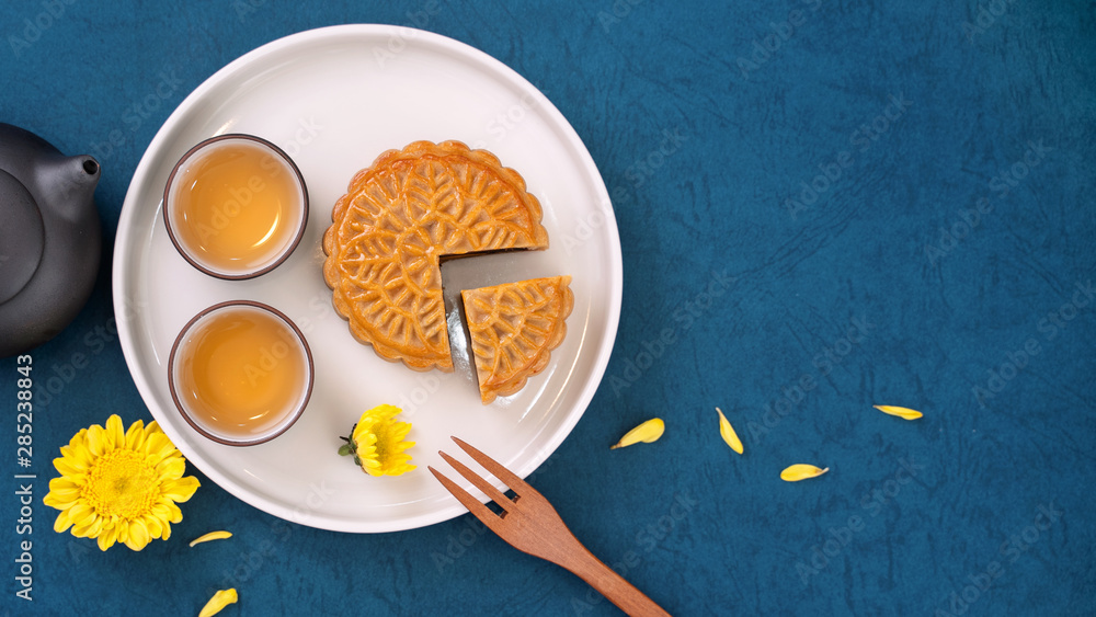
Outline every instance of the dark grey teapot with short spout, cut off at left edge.
POLYGON ((0 357, 53 339, 88 301, 102 244, 99 162, 0 123, 0 357))

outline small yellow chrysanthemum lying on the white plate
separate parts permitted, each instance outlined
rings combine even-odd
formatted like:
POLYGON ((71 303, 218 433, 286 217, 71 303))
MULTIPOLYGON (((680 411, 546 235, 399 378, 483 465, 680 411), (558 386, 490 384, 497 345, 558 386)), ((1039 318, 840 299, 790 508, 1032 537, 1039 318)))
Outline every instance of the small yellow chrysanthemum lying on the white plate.
POLYGON ((354 462, 369 476, 401 476, 415 468, 407 449, 414 442, 404 442, 411 431, 409 422, 396 420, 400 408, 383 404, 362 414, 341 454, 354 454, 354 462))

